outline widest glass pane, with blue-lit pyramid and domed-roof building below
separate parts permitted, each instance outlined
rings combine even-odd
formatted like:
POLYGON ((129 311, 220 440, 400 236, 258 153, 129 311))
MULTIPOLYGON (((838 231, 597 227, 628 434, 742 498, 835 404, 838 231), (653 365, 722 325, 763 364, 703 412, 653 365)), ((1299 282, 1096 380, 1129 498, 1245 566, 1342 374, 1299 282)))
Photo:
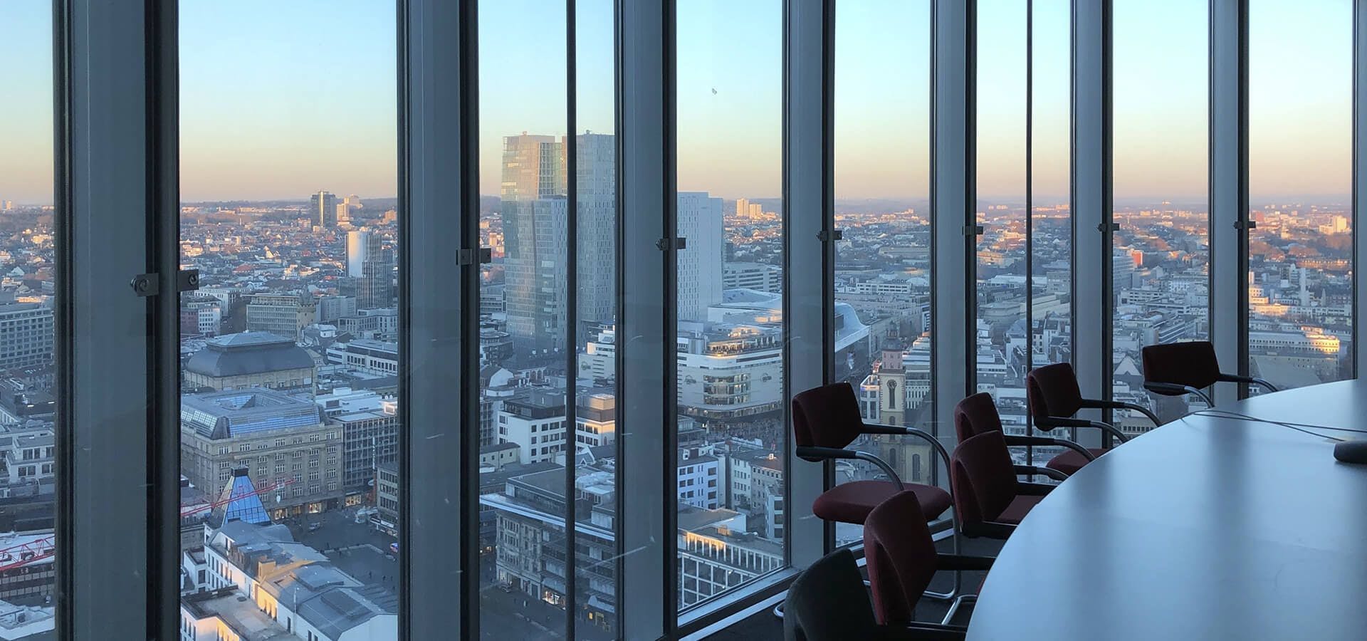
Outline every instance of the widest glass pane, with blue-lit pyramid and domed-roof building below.
POLYGON ((395 22, 384 1, 180 3, 180 256, 201 275, 180 299, 182 618, 200 638, 398 634, 395 22))

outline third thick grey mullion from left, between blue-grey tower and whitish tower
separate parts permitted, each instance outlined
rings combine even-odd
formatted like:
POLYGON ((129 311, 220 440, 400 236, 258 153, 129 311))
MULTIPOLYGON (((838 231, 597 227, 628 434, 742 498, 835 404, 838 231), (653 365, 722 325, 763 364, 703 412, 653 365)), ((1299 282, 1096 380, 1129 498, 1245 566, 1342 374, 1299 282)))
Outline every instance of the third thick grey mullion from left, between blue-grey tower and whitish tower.
POLYGON ((618 4, 618 600, 622 638, 677 622, 674 3, 618 4), (663 312, 663 313, 662 313, 663 312))

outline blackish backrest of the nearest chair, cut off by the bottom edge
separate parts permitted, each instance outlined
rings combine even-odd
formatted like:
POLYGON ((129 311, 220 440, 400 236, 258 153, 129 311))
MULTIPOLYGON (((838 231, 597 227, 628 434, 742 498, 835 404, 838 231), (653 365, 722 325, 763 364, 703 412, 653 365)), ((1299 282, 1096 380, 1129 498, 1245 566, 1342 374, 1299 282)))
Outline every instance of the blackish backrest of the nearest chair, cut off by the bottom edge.
POLYGON ((835 641, 874 638, 878 623, 868 605, 864 577, 849 548, 837 549, 802 570, 783 600, 783 638, 835 641))

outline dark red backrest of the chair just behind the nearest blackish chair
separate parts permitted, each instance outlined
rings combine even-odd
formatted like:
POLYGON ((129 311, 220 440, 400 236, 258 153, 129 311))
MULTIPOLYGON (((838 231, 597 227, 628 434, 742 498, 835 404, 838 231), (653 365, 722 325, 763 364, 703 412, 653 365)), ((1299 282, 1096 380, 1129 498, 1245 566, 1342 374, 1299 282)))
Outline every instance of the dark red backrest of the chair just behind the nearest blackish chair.
POLYGON ((874 616, 883 625, 910 623, 916 601, 935 575, 935 541, 916 492, 895 493, 868 514, 864 559, 874 616))

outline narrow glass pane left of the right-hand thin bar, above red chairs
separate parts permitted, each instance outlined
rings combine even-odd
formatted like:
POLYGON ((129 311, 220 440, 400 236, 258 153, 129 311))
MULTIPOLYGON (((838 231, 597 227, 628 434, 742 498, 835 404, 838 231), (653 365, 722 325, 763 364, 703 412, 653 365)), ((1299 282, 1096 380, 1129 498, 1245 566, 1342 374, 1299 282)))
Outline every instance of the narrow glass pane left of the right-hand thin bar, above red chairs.
MULTIPOLYGON (((977 8, 976 381, 1002 428, 1027 433, 1025 0, 977 8)), ((953 399, 957 402, 957 399, 953 399)), ((1024 462, 1025 451, 1014 452, 1024 462)))

